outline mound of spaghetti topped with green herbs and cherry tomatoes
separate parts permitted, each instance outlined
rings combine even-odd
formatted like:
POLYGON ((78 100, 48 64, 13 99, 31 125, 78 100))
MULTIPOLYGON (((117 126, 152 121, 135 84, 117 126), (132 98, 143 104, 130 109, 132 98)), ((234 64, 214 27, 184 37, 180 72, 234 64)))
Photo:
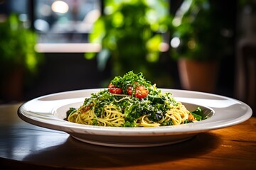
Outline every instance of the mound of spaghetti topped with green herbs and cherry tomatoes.
POLYGON ((198 114, 200 108, 197 114, 188 111, 170 93, 162 93, 155 84, 144 80, 142 74, 129 72, 124 77, 115 77, 110 84, 108 89, 85 98, 80 108, 70 108, 68 121, 113 127, 158 127, 203 119, 198 114))

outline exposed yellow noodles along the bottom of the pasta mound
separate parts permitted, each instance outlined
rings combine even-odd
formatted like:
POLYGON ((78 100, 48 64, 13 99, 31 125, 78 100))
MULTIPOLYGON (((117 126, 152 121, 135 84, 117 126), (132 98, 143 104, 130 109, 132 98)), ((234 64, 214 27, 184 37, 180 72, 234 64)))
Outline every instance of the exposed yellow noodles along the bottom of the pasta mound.
MULTIPOLYGON (((124 100, 124 98, 119 101, 122 100, 124 100)), ((189 113, 186 107, 178 102, 178 105, 166 111, 164 118, 158 122, 149 120, 149 115, 141 115, 135 120, 135 123, 137 127, 158 127, 161 126, 162 123, 169 121, 174 125, 179 125, 188 120, 189 113)), ((68 117, 68 121, 85 125, 94 125, 95 122, 97 122, 97 125, 100 126, 122 127, 125 123, 125 115, 119 107, 111 104, 104 106, 100 117, 97 117, 95 114, 95 108, 86 109, 85 106, 81 106, 78 111, 68 117)))

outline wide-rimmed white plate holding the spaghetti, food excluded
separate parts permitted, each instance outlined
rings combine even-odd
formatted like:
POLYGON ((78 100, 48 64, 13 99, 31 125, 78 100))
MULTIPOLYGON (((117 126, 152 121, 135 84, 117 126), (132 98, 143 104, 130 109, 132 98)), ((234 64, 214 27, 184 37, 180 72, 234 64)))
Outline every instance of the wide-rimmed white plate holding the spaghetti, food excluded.
POLYGON ((188 140, 199 132, 242 123, 252 116, 252 109, 247 104, 233 98, 196 91, 161 89, 163 92, 171 92, 176 101, 181 101, 188 111, 201 106, 210 118, 196 123, 157 128, 100 127, 63 120, 70 107, 78 108, 85 97, 100 90, 85 89, 41 96, 23 103, 18 108, 18 116, 33 125, 67 132, 82 142, 111 147, 170 145, 188 140))

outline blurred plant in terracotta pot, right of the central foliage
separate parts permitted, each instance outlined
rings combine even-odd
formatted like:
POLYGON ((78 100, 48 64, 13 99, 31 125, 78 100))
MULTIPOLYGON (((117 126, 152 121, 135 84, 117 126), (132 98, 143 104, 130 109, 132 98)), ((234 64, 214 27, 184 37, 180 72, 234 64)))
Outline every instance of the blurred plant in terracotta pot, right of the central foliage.
POLYGON ((171 56, 177 60, 182 88, 215 92, 218 63, 230 40, 215 1, 184 0, 172 23, 171 56))

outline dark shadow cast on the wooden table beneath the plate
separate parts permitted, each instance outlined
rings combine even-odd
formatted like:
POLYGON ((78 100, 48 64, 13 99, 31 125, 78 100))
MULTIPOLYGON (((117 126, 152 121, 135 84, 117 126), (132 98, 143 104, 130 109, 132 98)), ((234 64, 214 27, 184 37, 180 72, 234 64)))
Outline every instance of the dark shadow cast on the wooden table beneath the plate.
POLYGON ((48 147, 43 152, 30 154, 23 162, 48 164, 65 169, 124 168, 199 157, 219 145, 218 137, 203 132, 185 142, 162 147, 119 148, 90 145, 68 137, 62 145, 48 147), (70 150, 73 152, 70 153, 70 150))

